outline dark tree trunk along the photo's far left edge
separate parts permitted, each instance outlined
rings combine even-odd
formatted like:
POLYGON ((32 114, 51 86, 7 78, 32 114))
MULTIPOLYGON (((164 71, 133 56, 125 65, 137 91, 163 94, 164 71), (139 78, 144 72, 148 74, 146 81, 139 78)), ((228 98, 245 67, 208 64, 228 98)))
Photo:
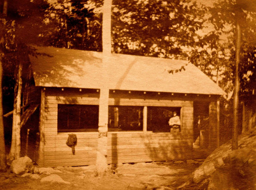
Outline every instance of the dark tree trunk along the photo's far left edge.
MULTIPOLYGON (((4 0, 3 6, 3 16, 7 16, 7 0, 4 0)), ((4 24, 0 23, 0 45, 4 43, 4 24)), ((4 136, 4 123, 3 123, 3 104, 2 104, 2 77, 3 77, 3 67, 2 67, 2 57, 3 52, 0 49, 0 171, 6 171, 7 161, 6 161, 6 151, 5 151, 5 136, 4 136)))

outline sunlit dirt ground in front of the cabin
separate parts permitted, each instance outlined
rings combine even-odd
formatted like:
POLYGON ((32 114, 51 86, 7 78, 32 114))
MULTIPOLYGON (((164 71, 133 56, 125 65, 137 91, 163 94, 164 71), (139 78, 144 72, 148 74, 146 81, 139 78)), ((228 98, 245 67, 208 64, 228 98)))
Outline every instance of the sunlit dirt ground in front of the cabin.
POLYGON ((112 172, 104 177, 94 177, 94 166, 57 167, 61 172, 56 174, 70 184, 42 183, 8 171, 0 173, 0 190, 168 190, 187 182, 198 166, 177 162, 112 165, 112 172))

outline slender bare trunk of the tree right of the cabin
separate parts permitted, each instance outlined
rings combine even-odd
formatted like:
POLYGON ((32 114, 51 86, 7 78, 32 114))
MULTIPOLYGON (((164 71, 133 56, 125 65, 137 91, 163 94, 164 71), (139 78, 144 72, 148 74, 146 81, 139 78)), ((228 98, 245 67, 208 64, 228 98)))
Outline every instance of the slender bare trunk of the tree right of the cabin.
POLYGON ((238 149, 238 104, 239 104, 239 76, 238 76, 238 66, 240 62, 240 46, 241 46, 241 28, 237 21, 236 24, 236 71, 235 71, 235 90, 234 90, 234 100, 233 100, 233 133, 232 133, 232 150, 238 149))

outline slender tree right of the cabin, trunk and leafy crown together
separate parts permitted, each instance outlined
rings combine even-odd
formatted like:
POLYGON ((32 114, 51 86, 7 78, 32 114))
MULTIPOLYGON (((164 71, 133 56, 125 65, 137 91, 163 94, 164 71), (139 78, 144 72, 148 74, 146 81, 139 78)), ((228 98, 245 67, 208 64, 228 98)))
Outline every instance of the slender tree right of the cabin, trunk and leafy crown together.
MULTIPOLYGON (((242 70, 245 65, 251 65, 249 61, 241 62, 241 58, 248 58, 250 46, 255 46, 256 30, 256 2, 251 0, 219 0, 210 8, 212 17, 210 20, 216 30, 222 30, 227 35, 231 34, 230 41, 235 42, 232 47, 234 56, 234 94, 233 94, 233 132, 232 149, 238 148, 238 103, 242 70), (236 35, 236 37, 234 36, 236 35)), ((232 49, 231 49, 232 52, 232 49)), ((248 58, 248 60, 250 60, 248 58)), ((246 66, 247 67, 247 66, 246 66)), ((243 75, 243 74, 242 74, 243 75)))

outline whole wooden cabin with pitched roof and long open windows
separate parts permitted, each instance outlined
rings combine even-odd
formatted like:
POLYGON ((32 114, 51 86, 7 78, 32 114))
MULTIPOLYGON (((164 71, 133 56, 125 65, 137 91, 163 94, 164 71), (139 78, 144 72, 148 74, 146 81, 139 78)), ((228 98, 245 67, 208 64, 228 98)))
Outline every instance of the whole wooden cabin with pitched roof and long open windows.
MULTIPOLYGON (((30 57, 40 88, 40 159, 44 167, 96 162, 102 53, 37 47, 30 57), (77 136, 75 154, 68 134, 77 136)), ((108 164, 195 157, 195 107, 207 110, 207 148, 216 147, 216 101, 224 93, 185 60, 112 54, 108 66, 108 164), (181 120, 170 132, 173 112, 181 120)), ((196 132, 198 136, 199 133, 196 132)))

